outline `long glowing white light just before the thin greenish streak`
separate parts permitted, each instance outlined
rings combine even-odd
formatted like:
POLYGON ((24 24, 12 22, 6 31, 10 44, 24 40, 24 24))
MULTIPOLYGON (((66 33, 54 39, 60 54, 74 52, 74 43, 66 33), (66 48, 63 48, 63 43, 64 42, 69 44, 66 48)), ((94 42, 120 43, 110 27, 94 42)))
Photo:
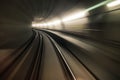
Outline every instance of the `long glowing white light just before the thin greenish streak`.
POLYGON ((85 17, 87 15, 86 12, 78 12, 76 14, 73 14, 71 16, 68 16, 66 18, 63 18, 62 21, 71 21, 71 20, 74 20, 74 19, 78 19, 78 18, 82 18, 82 17, 85 17))

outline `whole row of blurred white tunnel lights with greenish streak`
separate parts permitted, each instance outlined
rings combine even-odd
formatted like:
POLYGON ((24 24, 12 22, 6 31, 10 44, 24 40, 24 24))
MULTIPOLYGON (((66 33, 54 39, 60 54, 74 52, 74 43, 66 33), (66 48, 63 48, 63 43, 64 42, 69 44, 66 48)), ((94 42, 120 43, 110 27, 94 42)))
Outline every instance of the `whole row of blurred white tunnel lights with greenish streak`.
POLYGON ((79 11, 79 12, 75 12, 75 14, 69 15, 67 17, 63 17, 62 19, 56 19, 53 21, 49 21, 49 22, 45 22, 45 23, 33 23, 32 26, 33 27, 52 27, 52 26, 56 26, 61 24, 61 22, 67 22, 67 21, 71 21, 71 20, 75 20, 75 19, 79 19, 79 18, 83 18, 86 17, 89 13, 89 11, 96 9, 98 7, 101 7, 103 5, 106 5, 108 7, 113 7, 113 6, 117 6, 120 4, 120 0, 105 0, 99 4, 96 4, 90 8, 85 9, 84 11, 79 11))

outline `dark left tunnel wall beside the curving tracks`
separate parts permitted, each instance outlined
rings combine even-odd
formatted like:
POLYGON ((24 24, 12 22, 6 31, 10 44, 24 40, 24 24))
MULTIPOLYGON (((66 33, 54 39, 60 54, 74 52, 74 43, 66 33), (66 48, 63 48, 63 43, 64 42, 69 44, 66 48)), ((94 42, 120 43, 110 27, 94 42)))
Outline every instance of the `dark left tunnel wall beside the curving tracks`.
POLYGON ((17 48, 31 37, 31 8, 24 3, 23 0, 0 2, 0 49, 17 48))

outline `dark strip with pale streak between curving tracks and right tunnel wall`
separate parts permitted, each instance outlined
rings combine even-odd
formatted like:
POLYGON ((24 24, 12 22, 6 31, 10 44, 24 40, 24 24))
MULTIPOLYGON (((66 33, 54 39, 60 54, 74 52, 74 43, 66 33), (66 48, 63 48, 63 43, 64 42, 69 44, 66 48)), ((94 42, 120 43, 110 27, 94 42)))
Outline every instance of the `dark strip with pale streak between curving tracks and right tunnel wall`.
POLYGON ((110 46, 52 30, 42 31, 48 33, 59 45, 74 55, 95 79, 120 79, 120 47, 117 45, 110 46))

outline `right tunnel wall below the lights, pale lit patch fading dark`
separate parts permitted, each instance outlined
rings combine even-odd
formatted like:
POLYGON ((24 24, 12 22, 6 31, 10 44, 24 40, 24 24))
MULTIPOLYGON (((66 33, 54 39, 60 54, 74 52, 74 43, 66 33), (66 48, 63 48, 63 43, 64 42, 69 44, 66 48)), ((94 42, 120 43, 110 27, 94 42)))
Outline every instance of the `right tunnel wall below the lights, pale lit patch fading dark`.
POLYGON ((67 31, 83 33, 99 40, 120 42, 120 6, 94 9, 89 16, 65 22, 67 31))

